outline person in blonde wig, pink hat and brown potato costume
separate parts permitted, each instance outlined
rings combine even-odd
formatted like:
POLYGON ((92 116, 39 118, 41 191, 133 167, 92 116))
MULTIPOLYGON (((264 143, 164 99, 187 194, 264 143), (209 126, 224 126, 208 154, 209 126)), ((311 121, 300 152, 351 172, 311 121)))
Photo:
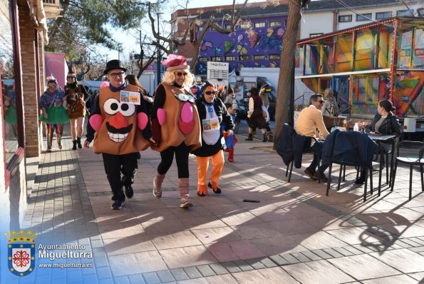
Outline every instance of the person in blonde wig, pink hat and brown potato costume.
POLYGON ((200 122, 195 98, 186 88, 192 75, 184 56, 170 54, 162 63, 167 67, 162 83, 157 86, 152 112, 152 149, 160 152, 160 164, 153 179, 153 195, 162 196, 162 182, 175 155, 180 188, 180 207, 192 206, 189 195, 188 156, 200 148, 200 122))

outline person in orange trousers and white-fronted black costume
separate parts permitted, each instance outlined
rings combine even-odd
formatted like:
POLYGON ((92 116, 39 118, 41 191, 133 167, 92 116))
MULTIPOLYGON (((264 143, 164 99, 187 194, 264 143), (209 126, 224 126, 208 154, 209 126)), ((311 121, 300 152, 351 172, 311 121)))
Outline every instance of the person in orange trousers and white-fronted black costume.
POLYGON ((221 123, 228 136, 232 136, 234 123, 224 103, 215 98, 217 91, 212 83, 206 81, 202 86, 202 97, 197 98, 196 106, 202 125, 202 147, 192 153, 197 157, 197 195, 205 196, 207 186, 214 193, 221 193, 218 180, 224 167, 225 139, 222 136, 221 123), (212 158, 212 173, 210 182, 206 186, 207 168, 209 158, 212 158))

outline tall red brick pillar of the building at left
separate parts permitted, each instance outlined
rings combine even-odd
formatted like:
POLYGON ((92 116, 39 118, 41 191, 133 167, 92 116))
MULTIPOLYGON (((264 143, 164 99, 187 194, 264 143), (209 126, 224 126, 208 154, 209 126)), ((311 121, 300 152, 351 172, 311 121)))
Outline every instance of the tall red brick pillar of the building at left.
POLYGON ((24 137, 27 157, 39 155, 38 101, 36 89, 36 59, 34 26, 27 5, 19 6, 19 34, 21 43, 22 93, 24 101, 24 137))

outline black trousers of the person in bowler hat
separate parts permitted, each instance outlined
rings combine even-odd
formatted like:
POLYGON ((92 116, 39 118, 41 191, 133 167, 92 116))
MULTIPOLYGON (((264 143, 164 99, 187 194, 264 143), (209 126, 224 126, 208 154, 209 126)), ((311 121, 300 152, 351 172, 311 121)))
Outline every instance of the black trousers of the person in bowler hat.
POLYGON ((125 201, 123 184, 134 182, 134 176, 137 173, 137 154, 138 152, 125 155, 102 154, 106 176, 113 193, 112 200, 125 201), (122 180, 120 173, 123 174, 122 180))

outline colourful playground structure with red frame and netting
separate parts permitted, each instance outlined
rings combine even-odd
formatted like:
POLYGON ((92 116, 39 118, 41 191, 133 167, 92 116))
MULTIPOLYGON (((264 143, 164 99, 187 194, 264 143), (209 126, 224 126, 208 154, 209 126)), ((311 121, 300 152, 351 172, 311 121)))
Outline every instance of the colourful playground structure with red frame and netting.
POLYGON ((423 86, 423 18, 394 17, 297 43, 297 110, 311 94, 333 88, 341 113, 351 117, 372 118, 388 98, 400 118, 423 120, 423 86))

